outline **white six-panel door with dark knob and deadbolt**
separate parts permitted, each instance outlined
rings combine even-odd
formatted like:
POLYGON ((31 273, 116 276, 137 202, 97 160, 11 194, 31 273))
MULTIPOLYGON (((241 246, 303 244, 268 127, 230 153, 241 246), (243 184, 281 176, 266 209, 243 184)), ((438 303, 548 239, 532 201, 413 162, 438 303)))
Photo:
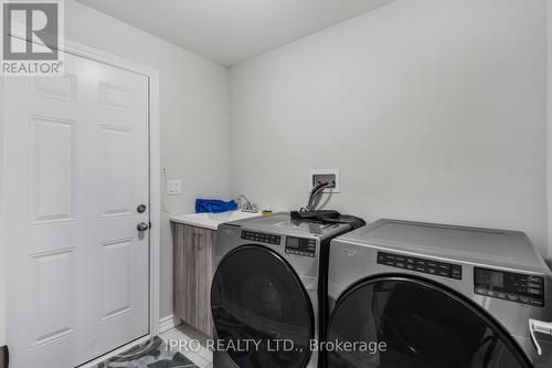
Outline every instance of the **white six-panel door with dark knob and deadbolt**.
POLYGON ((75 367, 149 332, 148 78, 66 54, 4 86, 12 367, 75 367))

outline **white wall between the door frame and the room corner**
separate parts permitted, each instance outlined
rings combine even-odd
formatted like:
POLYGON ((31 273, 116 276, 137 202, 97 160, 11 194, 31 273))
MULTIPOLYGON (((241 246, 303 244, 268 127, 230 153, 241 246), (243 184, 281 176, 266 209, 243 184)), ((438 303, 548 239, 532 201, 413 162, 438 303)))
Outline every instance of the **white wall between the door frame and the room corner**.
MULTIPOLYGON (((161 167, 183 180, 168 211, 193 212, 199 196, 227 196, 227 70, 73 0, 65 17, 67 39, 159 70, 161 167)), ((161 317, 172 314, 169 213, 162 222, 161 317)))

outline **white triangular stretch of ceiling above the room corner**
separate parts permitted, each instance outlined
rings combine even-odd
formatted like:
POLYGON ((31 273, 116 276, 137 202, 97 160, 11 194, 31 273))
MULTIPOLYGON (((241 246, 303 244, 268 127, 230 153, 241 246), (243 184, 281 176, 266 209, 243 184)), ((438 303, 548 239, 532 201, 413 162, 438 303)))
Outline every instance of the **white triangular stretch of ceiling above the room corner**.
POLYGON ((394 0, 78 0, 231 66, 394 0))

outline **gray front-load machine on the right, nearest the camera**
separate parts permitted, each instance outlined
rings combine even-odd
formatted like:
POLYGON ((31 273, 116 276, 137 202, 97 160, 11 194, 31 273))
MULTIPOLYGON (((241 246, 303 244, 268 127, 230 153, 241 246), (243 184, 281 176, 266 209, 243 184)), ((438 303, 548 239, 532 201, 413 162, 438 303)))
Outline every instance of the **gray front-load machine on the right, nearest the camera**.
POLYGON ((328 283, 331 368, 552 367, 530 330, 551 272, 522 232, 380 220, 331 242, 328 283))

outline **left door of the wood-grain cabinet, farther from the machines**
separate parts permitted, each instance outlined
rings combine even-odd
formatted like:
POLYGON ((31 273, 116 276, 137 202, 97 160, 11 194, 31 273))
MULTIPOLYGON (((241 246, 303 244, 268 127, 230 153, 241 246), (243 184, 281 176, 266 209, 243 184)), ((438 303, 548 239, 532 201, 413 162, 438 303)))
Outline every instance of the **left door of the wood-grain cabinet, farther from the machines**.
POLYGON ((187 324, 197 324, 195 228, 174 225, 174 313, 187 324))

